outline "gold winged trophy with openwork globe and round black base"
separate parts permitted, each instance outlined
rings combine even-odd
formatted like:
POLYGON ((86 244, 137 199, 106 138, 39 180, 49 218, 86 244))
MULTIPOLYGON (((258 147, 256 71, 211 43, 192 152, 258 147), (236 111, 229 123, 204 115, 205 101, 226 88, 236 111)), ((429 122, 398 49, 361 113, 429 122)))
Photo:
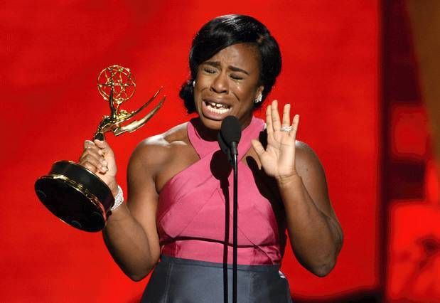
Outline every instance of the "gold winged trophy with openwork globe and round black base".
MULTIPOLYGON (((106 132, 115 136, 134 132, 142 127, 159 110, 165 97, 142 119, 122 125, 144 110, 159 95, 160 89, 148 102, 132 112, 119 109, 136 90, 134 77, 128 68, 112 65, 98 75, 98 91, 109 102, 110 115, 102 117, 93 139, 104 140, 106 132)), ((73 161, 57 161, 47 176, 40 177, 35 184, 40 201, 55 216, 80 230, 96 232, 104 228, 107 213, 114 204, 112 191, 92 171, 73 161)))

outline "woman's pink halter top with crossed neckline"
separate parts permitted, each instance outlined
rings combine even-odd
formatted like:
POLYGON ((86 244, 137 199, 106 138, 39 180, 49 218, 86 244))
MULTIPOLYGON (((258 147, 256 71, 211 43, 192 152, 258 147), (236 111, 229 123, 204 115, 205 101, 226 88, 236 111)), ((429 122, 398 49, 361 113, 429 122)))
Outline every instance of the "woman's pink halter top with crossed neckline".
MULTIPOLYGON (((249 126, 243 129, 238 144, 240 159, 263 127, 262 119, 252 117, 249 126)), ((230 165, 218 142, 202 139, 193 121, 188 122, 187 131, 200 160, 173 176, 159 194, 156 223, 161 254, 221 263, 227 243, 227 262, 232 263, 230 165), (229 225, 228 233, 225 223, 229 225)), ((280 264, 286 243, 285 228, 281 228, 284 226, 278 226, 271 203, 259 193, 252 171, 239 161, 238 264, 280 264)))

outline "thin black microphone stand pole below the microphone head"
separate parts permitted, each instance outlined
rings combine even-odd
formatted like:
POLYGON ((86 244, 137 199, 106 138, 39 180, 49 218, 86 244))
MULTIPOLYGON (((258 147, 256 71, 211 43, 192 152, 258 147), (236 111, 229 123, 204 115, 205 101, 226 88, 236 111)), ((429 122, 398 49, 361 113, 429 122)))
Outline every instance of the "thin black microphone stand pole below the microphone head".
POLYGON ((233 203, 233 223, 232 223, 232 302, 237 303, 237 242, 238 242, 238 151, 237 142, 232 142, 232 170, 234 171, 234 203, 233 203))

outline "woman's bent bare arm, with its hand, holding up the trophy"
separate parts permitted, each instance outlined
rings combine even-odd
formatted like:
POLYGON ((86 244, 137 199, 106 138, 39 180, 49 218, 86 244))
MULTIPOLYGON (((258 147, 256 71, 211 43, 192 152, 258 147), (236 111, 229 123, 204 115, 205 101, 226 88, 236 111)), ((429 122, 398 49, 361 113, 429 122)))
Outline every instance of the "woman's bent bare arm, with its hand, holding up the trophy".
MULTIPOLYGON (((87 142, 86 142, 87 144, 87 142)), ((92 169, 117 193, 114 154, 107 142, 88 143, 80 164, 92 169), (84 156, 86 154, 88 156, 84 156), (97 159, 93 159, 93 158, 97 159), (101 158, 100 158, 101 157, 101 158), (102 162, 102 158, 104 162, 102 162), (102 169, 102 163, 108 170, 102 169)), ((158 194, 154 184, 153 167, 149 167, 146 144, 132 154, 127 172, 129 203, 122 203, 107 219, 102 234, 113 259, 132 280, 139 281, 151 272, 159 261, 159 235, 156 231, 158 194)))

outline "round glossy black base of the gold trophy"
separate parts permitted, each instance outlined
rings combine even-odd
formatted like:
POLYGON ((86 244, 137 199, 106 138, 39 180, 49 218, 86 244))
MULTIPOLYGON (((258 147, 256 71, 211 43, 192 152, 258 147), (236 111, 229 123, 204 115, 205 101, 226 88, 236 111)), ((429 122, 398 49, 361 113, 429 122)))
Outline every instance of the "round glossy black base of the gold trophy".
POLYGON ((88 232, 104 228, 107 212, 114 204, 107 184, 72 161, 55 162, 49 174, 36 181, 35 190, 40 201, 60 220, 88 232))

